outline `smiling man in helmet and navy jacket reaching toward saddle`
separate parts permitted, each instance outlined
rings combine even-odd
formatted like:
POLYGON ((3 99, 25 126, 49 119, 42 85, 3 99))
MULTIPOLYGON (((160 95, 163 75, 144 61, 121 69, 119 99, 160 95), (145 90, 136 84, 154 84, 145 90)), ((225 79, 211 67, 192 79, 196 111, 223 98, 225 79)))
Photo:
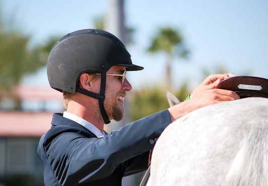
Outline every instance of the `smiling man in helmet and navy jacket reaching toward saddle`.
POLYGON ((107 134, 105 123, 124 117, 124 98, 132 88, 126 72, 142 69, 132 64, 124 44, 103 30, 75 31, 53 46, 48 79, 63 92, 67 111, 53 115, 38 146, 47 186, 121 185, 123 176, 147 169, 156 139, 172 121, 206 105, 239 99, 234 92, 214 89, 231 74, 211 75, 190 100, 107 134))

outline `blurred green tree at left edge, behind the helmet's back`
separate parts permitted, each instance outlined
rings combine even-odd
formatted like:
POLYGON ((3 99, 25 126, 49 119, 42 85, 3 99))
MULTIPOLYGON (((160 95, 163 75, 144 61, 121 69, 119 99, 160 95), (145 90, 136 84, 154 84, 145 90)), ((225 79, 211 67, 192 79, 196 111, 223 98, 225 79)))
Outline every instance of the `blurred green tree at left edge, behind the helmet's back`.
MULTIPOLYGON (((58 38, 51 37, 44 45, 30 47, 30 37, 15 29, 8 29, 0 18, 0 98, 10 94, 25 75, 36 72, 47 63, 47 57, 58 38)), ((20 100, 16 108, 20 109, 20 100)))

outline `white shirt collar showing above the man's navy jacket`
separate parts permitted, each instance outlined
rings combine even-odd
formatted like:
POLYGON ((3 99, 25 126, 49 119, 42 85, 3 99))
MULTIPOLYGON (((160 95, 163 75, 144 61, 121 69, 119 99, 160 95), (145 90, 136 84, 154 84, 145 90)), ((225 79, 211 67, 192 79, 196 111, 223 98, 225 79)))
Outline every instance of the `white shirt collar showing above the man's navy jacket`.
POLYGON ((93 134, 95 134, 98 138, 103 138, 105 136, 104 131, 100 131, 96 126, 92 125, 90 122, 84 120, 83 118, 74 115, 70 112, 63 112, 63 117, 66 117, 68 119, 71 119, 77 123, 79 123, 81 126, 85 127, 86 129, 90 130, 93 134))

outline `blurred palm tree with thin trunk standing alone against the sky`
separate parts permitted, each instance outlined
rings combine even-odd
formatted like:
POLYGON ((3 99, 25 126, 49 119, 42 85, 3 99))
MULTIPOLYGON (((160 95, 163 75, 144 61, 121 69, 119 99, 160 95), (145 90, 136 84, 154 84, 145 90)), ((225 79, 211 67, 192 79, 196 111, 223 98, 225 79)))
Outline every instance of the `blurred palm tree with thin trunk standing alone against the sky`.
POLYGON ((181 33, 173 28, 161 28, 159 33, 152 39, 147 49, 151 53, 164 52, 166 54, 166 88, 171 90, 171 63, 173 57, 187 58, 189 51, 184 46, 181 33))

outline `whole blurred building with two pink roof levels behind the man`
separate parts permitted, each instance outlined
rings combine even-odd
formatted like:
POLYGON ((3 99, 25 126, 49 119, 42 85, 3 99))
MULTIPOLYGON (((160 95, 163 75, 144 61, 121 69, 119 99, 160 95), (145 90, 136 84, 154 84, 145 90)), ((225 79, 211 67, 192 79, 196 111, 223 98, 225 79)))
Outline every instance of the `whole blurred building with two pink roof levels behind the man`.
POLYGON ((0 177, 29 174, 43 180, 37 146, 50 128, 53 112, 63 111, 62 100, 62 94, 50 87, 19 86, 2 97, 0 177), (21 110, 16 110, 18 102, 21 110))

